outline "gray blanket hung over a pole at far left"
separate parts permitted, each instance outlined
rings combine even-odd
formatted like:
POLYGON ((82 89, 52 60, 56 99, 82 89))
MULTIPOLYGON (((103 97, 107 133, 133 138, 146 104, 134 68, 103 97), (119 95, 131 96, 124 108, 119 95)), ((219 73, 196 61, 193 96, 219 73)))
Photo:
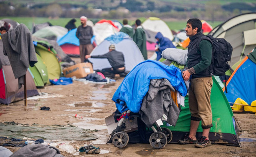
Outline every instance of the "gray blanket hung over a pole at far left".
POLYGON ((35 47, 30 30, 25 24, 1 34, 4 54, 8 56, 15 78, 19 78, 19 89, 24 84, 27 68, 37 63, 35 47))

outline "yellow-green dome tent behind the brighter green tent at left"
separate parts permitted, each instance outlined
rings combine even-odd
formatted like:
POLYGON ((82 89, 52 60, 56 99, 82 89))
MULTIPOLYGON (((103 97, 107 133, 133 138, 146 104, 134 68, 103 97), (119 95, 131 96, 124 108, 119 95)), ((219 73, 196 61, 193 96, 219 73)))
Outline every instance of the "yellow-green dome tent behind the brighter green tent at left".
POLYGON ((59 79, 62 70, 56 56, 56 51, 51 46, 45 44, 45 42, 47 41, 34 41, 35 51, 45 63, 49 79, 59 79))

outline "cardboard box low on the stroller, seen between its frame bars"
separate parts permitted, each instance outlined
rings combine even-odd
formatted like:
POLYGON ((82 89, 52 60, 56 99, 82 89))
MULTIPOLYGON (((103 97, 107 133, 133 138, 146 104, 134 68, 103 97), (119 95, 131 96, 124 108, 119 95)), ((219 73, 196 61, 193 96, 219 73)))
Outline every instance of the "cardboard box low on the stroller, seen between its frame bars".
MULTIPOLYGON (((108 116, 105 118, 105 123, 107 125, 107 132, 109 135, 112 133, 112 131, 117 128, 117 123, 114 122, 114 114, 108 116)), ((126 128, 124 129, 125 132, 129 133, 135 130, 138 130, 138 123, 137 123, 137 117, 134 117, 134 120, 129 121, 127 120, 125 123, 126 128)))

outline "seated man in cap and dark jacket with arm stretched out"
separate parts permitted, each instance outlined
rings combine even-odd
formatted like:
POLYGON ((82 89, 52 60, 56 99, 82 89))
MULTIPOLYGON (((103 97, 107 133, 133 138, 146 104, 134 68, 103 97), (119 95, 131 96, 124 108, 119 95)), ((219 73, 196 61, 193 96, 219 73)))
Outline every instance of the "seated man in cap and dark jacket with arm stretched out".
POLYGON ((107 58, 112 68, 102 69, 103 74, 108 72, 112 74, 121 74, 125 71, 124 54, 122 52, 116 51, 114 44, 109 46, 108 53, 97 56, 86 55, 85 59, 87 60, 88 58, 107 58))

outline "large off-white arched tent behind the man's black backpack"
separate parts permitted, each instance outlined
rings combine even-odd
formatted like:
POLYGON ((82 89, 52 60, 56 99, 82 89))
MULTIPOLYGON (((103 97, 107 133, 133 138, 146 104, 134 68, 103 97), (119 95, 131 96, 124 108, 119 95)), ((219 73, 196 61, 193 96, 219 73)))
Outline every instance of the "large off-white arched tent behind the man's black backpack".
POLYGON ((255 12, 232 17, 215 27, 209 34, 215 38, 224 38, 232 45, 233 52, 230 65, 233 65, 240 60, 241 53, 247 55, 256 47, 253 40, 256 34, 252 33, 254 29, 256 29, 255 12), (252 32, 249 30, 252 30, 252 32), (249 31, 249 33, 246 33, 246 31, 249 31), (249 44, 249 42, 252 43, 249 44))

